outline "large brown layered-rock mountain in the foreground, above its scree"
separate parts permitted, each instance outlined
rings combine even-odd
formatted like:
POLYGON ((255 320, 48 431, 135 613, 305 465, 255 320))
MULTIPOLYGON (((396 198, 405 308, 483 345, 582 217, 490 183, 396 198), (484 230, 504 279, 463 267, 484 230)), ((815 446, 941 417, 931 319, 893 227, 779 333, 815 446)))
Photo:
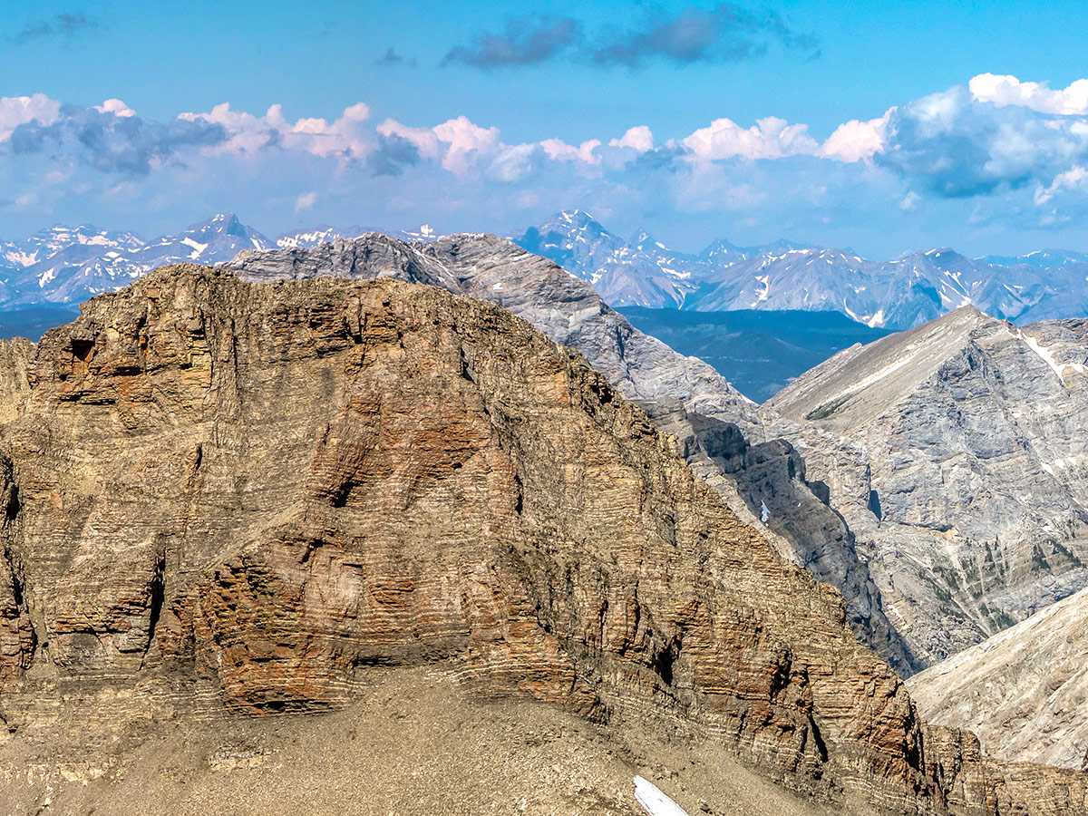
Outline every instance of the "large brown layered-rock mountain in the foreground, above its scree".
MULTIPOLYGON (((165 268, 3 354, 0 784, 15 812, 47 796, 143 812, 124 795, 140 774, 190 807, 220 791, 264 812, 238 795, 259 786, 238 786, 261 762, 269 784, 295 772, 262 758, 268 724, 312 735, 294 714, 380 705, 387 672, 413 669, 432 691, 452 678, 481 704, 572 713, 601 740, 728 755, 808 812, 1084 811, 1080 774, 925 726, 836 591, 583 357, 504 309, 399 281, 165 268), (249 742, 202 764, 160 739, 239 719, 249 742)), ((473 710, 461 727, 490 739, 473 710)), ((644 759, 669 772, 667 752, 644 759)), ((728 813, 705 767, 678 796, 728 813)), ((366 782, 336 788, 364 798, 366 782)), ((586 801, 574 809, 631 812, 586 801)))

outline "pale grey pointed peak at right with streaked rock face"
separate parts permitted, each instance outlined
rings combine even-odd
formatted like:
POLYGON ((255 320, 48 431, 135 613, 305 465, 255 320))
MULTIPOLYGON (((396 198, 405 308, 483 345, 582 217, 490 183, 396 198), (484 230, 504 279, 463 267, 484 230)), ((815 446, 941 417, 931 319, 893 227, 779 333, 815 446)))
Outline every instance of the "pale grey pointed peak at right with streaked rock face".
POLYGON ((1088 584, 1086 334, 963 308, 769 403, 926 662, 1088 584))

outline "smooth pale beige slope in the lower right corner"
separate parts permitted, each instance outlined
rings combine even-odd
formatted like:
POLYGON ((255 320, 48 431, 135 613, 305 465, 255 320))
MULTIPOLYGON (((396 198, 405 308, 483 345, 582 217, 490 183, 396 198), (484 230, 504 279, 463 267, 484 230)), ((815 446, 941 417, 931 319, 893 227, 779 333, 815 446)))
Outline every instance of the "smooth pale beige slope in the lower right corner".
POLYGON ((1088 590, 911 678, 927 719, 970 728, 994 756, 1084 769, 1088 590))

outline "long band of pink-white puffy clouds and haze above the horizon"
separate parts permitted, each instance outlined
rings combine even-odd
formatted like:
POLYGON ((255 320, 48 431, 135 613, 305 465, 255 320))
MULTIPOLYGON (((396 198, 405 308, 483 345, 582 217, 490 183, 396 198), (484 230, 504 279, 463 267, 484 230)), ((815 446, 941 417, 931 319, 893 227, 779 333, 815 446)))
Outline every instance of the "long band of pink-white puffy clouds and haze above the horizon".
MULTIPOLYGON (((493 49, 495 59, 553 47, 515 35, 520 50, 493 49)), ((234 209, 284 225, 502 231, 564 207, 656 219, 666 233, 724 223, 734 235, 860 247, 949 224, 979 240, 1062 235, 1088 215, 1088 81, 1054 90, 981 74, 824 135, 771 115, 721 116, 677 134, 632 122, 577 144, 547 133, 508 141, 466 115, 380 119, 364 102, 332 119, 224 103, 154 121, 119 99, 0 99, 0 211, 12 224, 234 209)))

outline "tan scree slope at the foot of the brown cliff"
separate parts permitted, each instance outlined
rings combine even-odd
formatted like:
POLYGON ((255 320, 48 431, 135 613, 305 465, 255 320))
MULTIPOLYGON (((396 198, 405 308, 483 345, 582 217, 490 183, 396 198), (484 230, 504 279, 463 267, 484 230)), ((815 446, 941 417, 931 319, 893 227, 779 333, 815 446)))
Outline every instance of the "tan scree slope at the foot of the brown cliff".
POLYGON ((435 668, 375 668, 321 716, 134 719, 116 740, 69 744, 67 712, 0 743, 7 816, 556 814, 643 816, 642 775, 688 813, 837 816, 709 741, 593 724, 541 703, 482 702, 435 668))

